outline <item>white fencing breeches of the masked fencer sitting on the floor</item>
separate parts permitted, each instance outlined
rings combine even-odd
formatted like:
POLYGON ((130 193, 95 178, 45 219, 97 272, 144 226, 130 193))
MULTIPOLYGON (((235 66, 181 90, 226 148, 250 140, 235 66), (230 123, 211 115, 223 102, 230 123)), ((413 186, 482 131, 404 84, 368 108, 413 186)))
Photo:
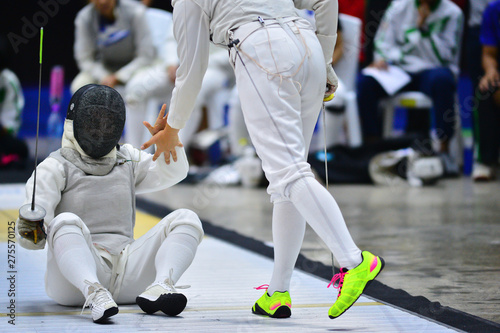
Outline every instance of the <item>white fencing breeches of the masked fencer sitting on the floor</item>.
MULTIPOLYGON (((67 306, 83 305, 85 298, 81 291, 66 280, 54 258, 54 239, 60 234, 75 232, 77 226, 95 259, 99 282, 113 295, 118 304, 135 303, 135 298, 150 285, 156 275, 155 256, 161 244, 177 226, 188 226, 183 232, 202 240, 203 229, 198 216, 187 209, 178 209, 164 217, 157 225, 123 251, 113 256, 96 247, 85 223, 75 214, 62 213, 50 224, 47 246, 47 272, 45 289, 47 295, 59 304, 67 306)), ((75 258, 78 260, 78 258, 75 258)))

